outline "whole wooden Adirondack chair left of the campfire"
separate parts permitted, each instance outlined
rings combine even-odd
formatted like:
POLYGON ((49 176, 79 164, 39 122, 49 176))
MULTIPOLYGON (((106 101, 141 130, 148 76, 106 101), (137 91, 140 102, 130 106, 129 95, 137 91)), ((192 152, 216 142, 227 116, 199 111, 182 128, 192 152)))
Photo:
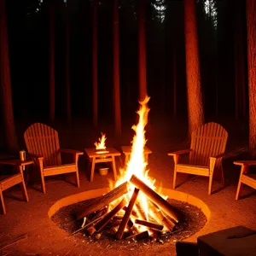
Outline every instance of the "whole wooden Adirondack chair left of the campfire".
POLYGON ((28 154, 34 160, 41 174, 42 189, 45 193, 44 177, 74 172, 79 187, 78 150, 60 148, 58 132, 48 125, 36 123, 27 128, 24 139, 28 154), (62 165, 61 153, 73 154, 73 163, 62 165))

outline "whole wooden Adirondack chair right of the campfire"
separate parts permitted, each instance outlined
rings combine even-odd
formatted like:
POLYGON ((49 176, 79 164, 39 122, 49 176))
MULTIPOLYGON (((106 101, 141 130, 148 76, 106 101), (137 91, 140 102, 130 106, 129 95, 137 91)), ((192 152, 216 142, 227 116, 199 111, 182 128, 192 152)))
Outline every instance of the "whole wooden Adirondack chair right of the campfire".
POLYGON ((175 164, 172 189, 176 187, 177 172, 183 172, 209 177, 208 195, 211 195, 214 170, 218 169, 221 172, 224 183, 221 160, 227 139, 228 132, 224 130, 224 127, 216 123, 207 123, 192 132, 189 149, 168 153, 173 156, 175 164), (178 161, 181 154, 189 154, 188 164, 178 161))

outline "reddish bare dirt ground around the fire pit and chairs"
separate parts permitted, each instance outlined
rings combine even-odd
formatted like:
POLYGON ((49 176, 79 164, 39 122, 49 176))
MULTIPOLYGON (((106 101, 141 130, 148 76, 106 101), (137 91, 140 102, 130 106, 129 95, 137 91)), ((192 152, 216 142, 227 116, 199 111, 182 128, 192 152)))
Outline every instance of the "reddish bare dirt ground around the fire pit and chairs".
MULTIPOLYGON (((218 119, 229 132, 227 152, 236 151, 238 154, 224 159, 224 176, 226 186, 221 188, 220 183, 213 181, 213 193, 207 195, 208 179, 195 177, 183 183, 177 190, 195 195, 204 201, 211 211, 211 218, 197 233, 186 238, 186 241, 196 241, 198 236, 217 230, 224 230, 236 225, 244 225, 256 230, 256 196, 253 189, 242 190, 244 195, 236 201, 236 187, 240 173, 238 166, 233 165, 234 160, 247 158, 243 149, 247 147, 247 131, 241 123, 232 119, 218 119)), ((129 145, 133 136, 131 125, 135 122, 127 121, 124 124, 123 136, 116 140, 113 137, 113 124, 101 124, 99 128, 93 127, 85 121, 74 120, 72 125, 57 122, 53 127, 59 131, 61 148, 94 147, 100 131, 107 134, 107 146, 119 149, 121 145, 129 145)), ((20 145, 24 145, 22 134, 31 121, 17 122, 20 145)), ((153 151, 149 157, 149 175, 154 177, 156 185, 171 189, 173 175, 173 161, 167 152, 187 148, 187 124, 183 120, 151 119, 147 127, 147 146, 153 151)), ((67 183, 61 177, 49 177, 46 180, 47 194, 40 191, 40 183, 28 184, 30 202, 21 199, 19 187, 8 189, 4 193, 7 208, 6 215, 0 215, 0 255, 176 255, 175 244, 142 245, 141 247, 120 247, 113 243, 111 247, 101 241, 81 241, 61 229, 48 217, 49 208, 59 199, 74 195, 90 189, 108 188, 108 180, 112 179, 112 172, 107 177, 96 172, 94 181, 90 183, 89 172, 85 168, 85 156, 79 160, 79 174, 81 187, 67 183), (2 247, 4 241, 26 234, 19 242, 2 247)), ((119 160, 117 160, 119 165, 119 160)))

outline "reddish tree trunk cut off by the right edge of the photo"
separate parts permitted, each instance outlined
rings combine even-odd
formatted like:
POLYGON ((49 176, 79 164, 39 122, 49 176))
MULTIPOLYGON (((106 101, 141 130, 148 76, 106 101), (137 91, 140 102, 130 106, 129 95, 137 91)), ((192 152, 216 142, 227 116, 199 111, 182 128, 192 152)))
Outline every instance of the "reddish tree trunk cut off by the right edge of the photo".
POLYGON ((256 156, 256 2, 247 0, 247 61, 249 89, 249 146, 256 156))

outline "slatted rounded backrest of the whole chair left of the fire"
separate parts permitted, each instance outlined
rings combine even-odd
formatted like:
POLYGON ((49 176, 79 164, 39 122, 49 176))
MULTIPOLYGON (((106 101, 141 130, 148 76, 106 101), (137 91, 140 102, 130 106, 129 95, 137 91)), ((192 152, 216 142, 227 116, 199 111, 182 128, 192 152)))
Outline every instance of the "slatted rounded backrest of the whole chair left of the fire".
POLYGON ((61 165, 58 132, 53 128, 35 123, 26 129, 24 139, 28 153, 44 156, 44 166, 61 165))

